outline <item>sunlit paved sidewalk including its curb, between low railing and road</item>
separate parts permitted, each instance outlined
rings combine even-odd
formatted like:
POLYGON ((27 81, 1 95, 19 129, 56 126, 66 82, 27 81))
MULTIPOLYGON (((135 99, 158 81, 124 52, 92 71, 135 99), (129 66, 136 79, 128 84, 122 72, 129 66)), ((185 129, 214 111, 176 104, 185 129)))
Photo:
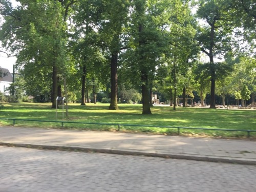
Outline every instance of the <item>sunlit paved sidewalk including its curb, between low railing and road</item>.
POLYGON ((0 145, 256 165, 256 142, 249 140, 8 126, 0 127, 0 145))

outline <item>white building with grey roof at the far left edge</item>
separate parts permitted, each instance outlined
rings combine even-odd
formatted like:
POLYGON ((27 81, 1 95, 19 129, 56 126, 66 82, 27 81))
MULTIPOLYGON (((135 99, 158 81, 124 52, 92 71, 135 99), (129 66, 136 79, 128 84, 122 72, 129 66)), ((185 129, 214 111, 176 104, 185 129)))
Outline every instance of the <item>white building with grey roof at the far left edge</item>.
POLYGON ((0 68, 0 92, 9 94, 6 91, 10 84, 12 83, 12 74, 9 72, 8 69, 0 68))

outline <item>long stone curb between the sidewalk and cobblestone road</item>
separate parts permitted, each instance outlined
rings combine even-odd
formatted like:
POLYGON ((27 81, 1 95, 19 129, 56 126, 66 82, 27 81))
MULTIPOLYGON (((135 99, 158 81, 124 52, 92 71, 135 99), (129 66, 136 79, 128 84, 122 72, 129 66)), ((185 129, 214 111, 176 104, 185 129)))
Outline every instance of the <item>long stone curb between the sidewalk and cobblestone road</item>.
POLYGON ((185 155, 185 154, 160 154, 160 153, 149 153, 149 152, 138 152, 138 151, 127 151, 127 150, 111 150, 111 149, 103 149, 103 148, 6 143, 6 142, 0 142, 0 145, 9 146, 9 147, 36 148, 37 150, 59 150, 59 151, 84 152, 84 153, 106 153, 106 154, 118 154, 118 155, 134 155, 134 156, 160 157, 160 158, 170 158, 170 159, 186 159, 186 160, 195 160, 195 161, 256 165, 256 160, 243 159, 243 158, 185 155))

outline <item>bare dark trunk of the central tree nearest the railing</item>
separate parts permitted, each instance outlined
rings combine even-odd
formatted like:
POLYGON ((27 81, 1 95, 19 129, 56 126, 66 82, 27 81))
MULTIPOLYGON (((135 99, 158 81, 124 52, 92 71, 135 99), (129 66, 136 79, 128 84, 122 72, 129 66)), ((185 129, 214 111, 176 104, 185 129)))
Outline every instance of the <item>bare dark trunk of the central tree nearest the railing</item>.
POLYGON ((141 71, 142 81, 142 114, 152 114, 150 109, 150 97, 148 94, 148 77, 145 71, 141 71))

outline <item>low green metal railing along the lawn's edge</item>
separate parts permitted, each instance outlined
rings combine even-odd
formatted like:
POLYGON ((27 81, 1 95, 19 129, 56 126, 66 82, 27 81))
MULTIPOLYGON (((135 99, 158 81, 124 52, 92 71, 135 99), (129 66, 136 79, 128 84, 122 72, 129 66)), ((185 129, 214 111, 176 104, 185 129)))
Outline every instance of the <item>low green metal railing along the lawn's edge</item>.
POLYGON ((158 128, 167 128, 167 129, 177 129, 177 134, 180 135, 181 129, 190 129, 190 130, 207 130, 207 131, 236 131, 236 132, 247 132, 247 137, 250 138, 251 132, 256 132, 256 130, 230 130, 230 129, 212 129, 212 128, 195 128, 195 127, 183 127, 183 126, 156 126, 156 125, 135 125, 135 124, 119 124, 119 123, 90 123, 90 122, 74 122, 74 121, 53 121, 53 120, 33 120, 33 119, 13 119, 13 118, 0 118, 2 120, 12 120, 13 125, 16 121, 36 121, 36 122, 54 122, 61 123, 61 127, 64 126, 64 123, 76 123, 76 124, 96 124, 96 125, 114 125, 118 127, 120 131, 120 126, 139 126, 139 127, 158 127, 158 128))

